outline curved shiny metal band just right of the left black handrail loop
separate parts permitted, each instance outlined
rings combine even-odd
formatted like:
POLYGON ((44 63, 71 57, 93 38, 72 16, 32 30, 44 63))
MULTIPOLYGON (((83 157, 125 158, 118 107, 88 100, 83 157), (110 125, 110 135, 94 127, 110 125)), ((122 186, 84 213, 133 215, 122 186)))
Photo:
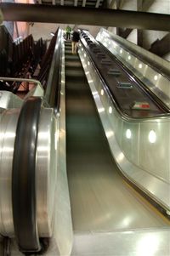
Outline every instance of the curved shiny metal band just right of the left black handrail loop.
POLYGON ((52 235, 57 176, 55 120, 52 109, 42 109, 37 136, 37 225, 39 236, 52 235))

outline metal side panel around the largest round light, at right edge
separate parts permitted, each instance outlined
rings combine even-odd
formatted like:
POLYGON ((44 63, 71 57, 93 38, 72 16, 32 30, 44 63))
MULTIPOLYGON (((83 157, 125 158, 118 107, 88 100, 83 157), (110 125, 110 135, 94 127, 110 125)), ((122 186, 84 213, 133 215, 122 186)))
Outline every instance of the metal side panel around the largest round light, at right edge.
POLYGON ((139 134, 139 166, 168 184, 170 184, 169 129, 169 119, 164 122, 158 120, 157 125, 153 122, 148 122, 147 126, 141 123, 139 134), (155 143, 149 141, 150 131, 155 133, 155 143))

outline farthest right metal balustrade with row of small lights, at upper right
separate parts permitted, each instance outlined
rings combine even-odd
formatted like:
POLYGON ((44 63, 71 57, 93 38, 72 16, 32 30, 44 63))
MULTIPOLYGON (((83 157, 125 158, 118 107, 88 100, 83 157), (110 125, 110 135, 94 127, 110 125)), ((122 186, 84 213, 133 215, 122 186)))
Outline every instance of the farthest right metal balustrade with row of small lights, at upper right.
MULTIPOLYGON (((102 29, 99 31, 96 39, 114 54, 118 60, 121 60, 130 71, 133 71, 133 74, 144 82, 144 85, 150 88, 150 90, 170 108, 170 80, 169 77, 161 74, 161 69, 165 69, 166 73, 168 73, 168 75, 170 74, 169 62, 148 52, 147 58, 152 62, 152 66, 150 66, 145 60, 140 59, 141 57, 139 58, 141 52, 143 53, 145 51, 144 49, 127 42, 127 40, 123 38, 121 38, 120 41, 119 37, 117 40, 114 40, 115 37, 117 36, 102 29), (132 48, 131 52, 128 50, 129 45, 130 48, 132 48), (133 51, 136 54, 133 54, 133 51), (138 53, 139 56, 137 55, 138 53), (154 68, 154 65, 160 65, 160 69, 154 68)), ((146 55, 147 52, 145 51, 143 54, 146 55)))

